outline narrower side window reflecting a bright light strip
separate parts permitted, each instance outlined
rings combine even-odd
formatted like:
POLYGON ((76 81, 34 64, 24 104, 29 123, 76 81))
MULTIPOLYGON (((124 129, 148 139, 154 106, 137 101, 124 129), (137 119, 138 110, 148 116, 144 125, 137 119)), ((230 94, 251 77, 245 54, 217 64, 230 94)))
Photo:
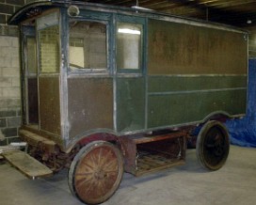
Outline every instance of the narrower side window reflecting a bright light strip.
POLYGON ((142 25, 119 23, 117 28, 117 66, 119 70, 141 67, 142 25))

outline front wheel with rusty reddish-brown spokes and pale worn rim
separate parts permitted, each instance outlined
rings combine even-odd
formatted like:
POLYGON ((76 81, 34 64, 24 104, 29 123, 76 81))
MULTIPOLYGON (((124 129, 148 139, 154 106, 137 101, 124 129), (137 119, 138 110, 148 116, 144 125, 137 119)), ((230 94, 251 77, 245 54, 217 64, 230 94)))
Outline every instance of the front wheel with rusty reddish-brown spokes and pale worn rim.
POLYGON ((115 193, 122 174, 120 150, 109 142, 95 141, 74 157, 69 170, 69 186, 81 201, 99 204, 115 193))

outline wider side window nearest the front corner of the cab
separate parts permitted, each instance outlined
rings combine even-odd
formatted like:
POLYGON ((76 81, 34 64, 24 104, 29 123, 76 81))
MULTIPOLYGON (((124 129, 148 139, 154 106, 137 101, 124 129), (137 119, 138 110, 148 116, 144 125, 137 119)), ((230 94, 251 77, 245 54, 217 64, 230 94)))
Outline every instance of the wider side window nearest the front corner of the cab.
POLYGON ((107 68, 106 24, 70 22, 70 68, 97 71, 107 68))

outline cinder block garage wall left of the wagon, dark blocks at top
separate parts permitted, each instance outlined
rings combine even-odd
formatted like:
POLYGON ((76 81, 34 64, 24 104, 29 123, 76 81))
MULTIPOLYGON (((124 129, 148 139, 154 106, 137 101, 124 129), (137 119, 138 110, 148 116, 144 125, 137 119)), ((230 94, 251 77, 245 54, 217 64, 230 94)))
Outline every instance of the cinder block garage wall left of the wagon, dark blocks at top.
POLYGON ((19 140, 21 124, 18 28, 6 24, 24 0, 0 0, 0 145, 19 140))

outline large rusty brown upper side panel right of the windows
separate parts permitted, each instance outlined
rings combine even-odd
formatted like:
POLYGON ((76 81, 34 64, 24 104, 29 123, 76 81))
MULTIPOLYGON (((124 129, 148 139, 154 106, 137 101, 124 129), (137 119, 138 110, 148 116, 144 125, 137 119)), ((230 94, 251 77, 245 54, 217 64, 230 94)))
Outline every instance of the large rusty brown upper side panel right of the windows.
POLYGON ((245 74, 246 33, 149 20, 149 74, 245 74))

